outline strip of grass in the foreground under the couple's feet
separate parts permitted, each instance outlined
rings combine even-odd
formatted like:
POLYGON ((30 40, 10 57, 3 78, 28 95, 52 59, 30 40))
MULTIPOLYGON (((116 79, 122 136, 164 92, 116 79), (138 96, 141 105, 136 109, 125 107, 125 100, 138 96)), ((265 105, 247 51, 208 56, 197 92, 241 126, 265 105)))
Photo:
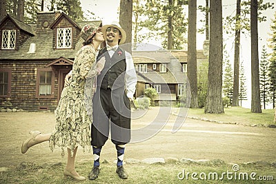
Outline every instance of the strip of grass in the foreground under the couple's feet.
MULTIPOLYGON (((63 167, 65 167, 63 163, 43 165, 21 163, 18 167, 1 172, 0 183, 77 183, 72 178, 63 178, 63 167)), ((276 180, 275 167, 262 164, 241 164, 237 172, 234 172, 232 165, 221 162, 215 165, 214 163, 126 164, 125 168, 129 174, 126 180, 117 176, 115 168, 115 164, 101 163, 99 178, 96 181, 86 179, 81 183, 275 183, 276 180), (261 181, 261 177, 266 181, 261 181)), ((91 170, 91 163, 77 163, 76 170, 82 176, 87 176, 91 170)))

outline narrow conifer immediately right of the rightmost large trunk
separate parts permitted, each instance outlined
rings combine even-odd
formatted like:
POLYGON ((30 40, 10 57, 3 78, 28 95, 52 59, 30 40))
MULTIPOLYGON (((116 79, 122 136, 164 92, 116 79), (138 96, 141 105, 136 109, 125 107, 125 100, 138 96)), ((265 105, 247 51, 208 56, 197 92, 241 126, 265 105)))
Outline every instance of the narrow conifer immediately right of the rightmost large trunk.
POLYGON ((266 109, 266 103, 270 101, 270 79, 268 76, 268 68, 268 53, 266 47, 263 45, 261 61, 259 63, 259 90, 264 109, 266 109))

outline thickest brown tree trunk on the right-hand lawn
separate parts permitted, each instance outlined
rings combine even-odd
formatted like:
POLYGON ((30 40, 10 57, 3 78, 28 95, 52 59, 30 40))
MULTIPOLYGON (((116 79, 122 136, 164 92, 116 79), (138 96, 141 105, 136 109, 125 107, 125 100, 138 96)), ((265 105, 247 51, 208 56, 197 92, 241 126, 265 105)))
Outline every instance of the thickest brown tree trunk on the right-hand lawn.
POLYGON ((224 106, 222 105, 222 62, 221 0, 210 0, 210 50, 205 113, 224 113, 224 106))

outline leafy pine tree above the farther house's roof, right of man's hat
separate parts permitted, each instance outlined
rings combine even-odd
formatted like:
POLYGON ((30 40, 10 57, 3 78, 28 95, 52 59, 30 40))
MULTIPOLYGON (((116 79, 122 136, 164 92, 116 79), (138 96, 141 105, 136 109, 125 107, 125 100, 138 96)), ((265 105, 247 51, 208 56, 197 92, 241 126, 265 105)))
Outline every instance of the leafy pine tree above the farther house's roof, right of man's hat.
POLYGON ((146 6, 141 7, 146 17, 141 27, 147 28, 151 37, 161 39, 164 48, 182 49, 188 25, 183 13, 184 5, 187 4, 188 1, 184 0, 148 0, 146 6))

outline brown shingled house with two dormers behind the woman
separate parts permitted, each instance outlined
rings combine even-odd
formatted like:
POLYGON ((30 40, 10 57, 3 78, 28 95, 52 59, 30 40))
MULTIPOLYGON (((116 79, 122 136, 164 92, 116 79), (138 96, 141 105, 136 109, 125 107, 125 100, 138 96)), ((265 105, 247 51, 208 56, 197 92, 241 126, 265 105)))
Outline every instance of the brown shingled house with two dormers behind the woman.
POLYGON ((1 106, 55 110, 87 23, 101 26, 75 22, 63 12, 38 12, 35 25, 7 14, 0 22, 1 106))

